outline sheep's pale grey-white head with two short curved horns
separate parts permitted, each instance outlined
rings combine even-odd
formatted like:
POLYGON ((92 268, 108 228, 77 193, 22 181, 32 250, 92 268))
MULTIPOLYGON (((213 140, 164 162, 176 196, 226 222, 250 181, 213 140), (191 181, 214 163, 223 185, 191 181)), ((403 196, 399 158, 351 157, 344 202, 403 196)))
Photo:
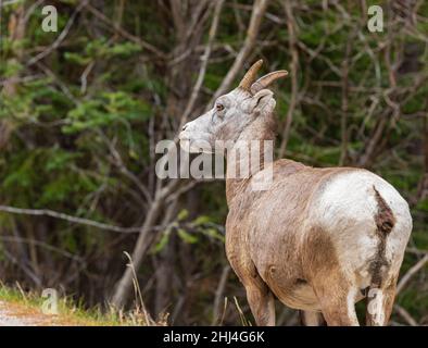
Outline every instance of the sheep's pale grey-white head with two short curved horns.
POLYGON ((274 94, 267 87, 287 71, 277 71, 255 80, 263 61, 255 62, 237 88, 215 101, 213 109, 187 123, 180 142, 192 151, 212 152, 216 140, 236 141, 255 117, 270 115, 275 109, 274 94))

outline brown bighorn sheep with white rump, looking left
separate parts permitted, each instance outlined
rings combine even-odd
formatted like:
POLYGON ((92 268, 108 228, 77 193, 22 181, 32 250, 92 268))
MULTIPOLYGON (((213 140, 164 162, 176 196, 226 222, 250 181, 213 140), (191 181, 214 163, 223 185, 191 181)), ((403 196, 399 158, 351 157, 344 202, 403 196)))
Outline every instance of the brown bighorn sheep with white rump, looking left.
MULTIPOLYGON (((256 62, 238 88, 187 123, 180 141, 273 140, 273 92, 287 75, 259 78, 256 62)), ((226 253, 246 287, 259 325, 275 325, 274 296, 302 311, 306 325, 358 325, 355 302, 367 298, 366 324, 386 325, 412 231, 407 202, 385 179, 363 169, 317 169, 281 159, 228 177, 237 165, 226 153, 226 253), (272 186, 250 183, 270 169, 272 186)), ((267 175, 267 174, 266 174, 267 175)))

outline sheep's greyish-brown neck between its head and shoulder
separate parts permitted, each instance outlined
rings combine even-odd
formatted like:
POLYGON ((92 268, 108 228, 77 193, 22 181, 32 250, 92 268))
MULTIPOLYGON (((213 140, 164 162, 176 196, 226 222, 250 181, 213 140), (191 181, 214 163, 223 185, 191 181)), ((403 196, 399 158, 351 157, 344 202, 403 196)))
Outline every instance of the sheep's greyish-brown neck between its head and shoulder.
MULTIPOLYGON (((268 121, 263 117, 256 119, 242 132, 231 151, 227 152, 226 198, 229 207, 237 196, 246 191, 251 177, 272 161, 269 157, 264 156, 264 147, 268 146, 265 141, 275 140, 274 124, 269 121, 270 117, 268 121), (257 158, 257 154, 259 159, 252 161, 254 156, 257 158), (241 166, 248 172, 244 172, 244 175, 237 175, 241 174, 241 166)), ((270 148, 273 151, 273 142, 270 142, 270 148)), ((273 159, 273 154, 270 158, 273 159)))

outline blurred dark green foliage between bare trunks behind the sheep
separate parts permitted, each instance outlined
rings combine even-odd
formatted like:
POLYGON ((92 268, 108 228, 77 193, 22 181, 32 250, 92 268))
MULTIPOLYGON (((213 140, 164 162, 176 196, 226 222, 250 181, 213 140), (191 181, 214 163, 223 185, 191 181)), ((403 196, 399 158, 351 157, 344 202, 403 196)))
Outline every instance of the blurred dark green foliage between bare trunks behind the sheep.
MULTIPOLYGON (((46 2, 58 8, 61 33, 79 1, 46 2)), ((380 2, 387 8, 387 1, 380 2)), ((29 11, 32 1, 23 3, 29 11)), ((347 45, 351 42, 344 164, 357 165, 392 99, 399 103, 399 115, 387 115, 388 126, 373 161, 366 166, 413 201, 427 170, 424 117, 427 117, 428 84, 412 88, 417 76, 428 73, 428 3, 420 2, 417 10, 420 20, 410 32, 394 28, 391 33, 388 27, 391 16, 387 13, 387 30, 377 34, 365 27, 356 2, 348 1, 348 20, 343 18, 341 8, 333 4, 336 1, 323 1, 327 9, 320 3, 294 2, 300 100, 293 111, 287 156, 316 166, 340 162, 342 76, 335 66, 341 72, 347 45), (383 49, 387 46, 389 53, 383 49), (393 95, 388 95, 391 82, 387 54, 399 64, 395 66, 399 88, 393 95)), ((219 86, 242 46, 246 30, 240 23, 248 23, 251 4, 252 1, 244 0, 226 1, 194 115, 219 86)), ((184 108, 179 107, 178 111, 169 108, 171 98, 188 100, 191 89, 177 90, 173 85, 175 76, 168 73, 172 63, 153 57, 143 45, 114 30, 114 25, 121 26, 134 38, 173 54, 179 38, 172 24, 168 1, 97 0, 93 7, 113 22, 106 24, 93 12, 81 10, 59 47, 32 65, 27 62, 53 45, 59 33, 41 29, 41 8, 37 7, 32 9, 24 38, 15 40, 10 36, 10 20, 20 4, 2 9, 1 30, 5 35, 1 38, 0 80, 3 87, 13 78, 18 82, 13 92, 3 90, 0 100, 0 121, 11 129, 0 156, 0 201, 18 208, 52 209, 112 225, 139 226, 147 207, 124 167, 148 183, 149 194, 153 194, 152 146, 174 136, 184 108)), ((269 66, 264 67, 265 72, 270 67, 288 69, 291 52, 284 1, 273 0, 263 21, 249 61, 263 57, 269 66)), ((193 61, 188 58, 181 67, 180 73, 189 72, 190 86, 198 77, 209 24, 210 21, 203 26, 200 45, 189 52, 193 61)), ((281 130, 290 104, 291 84, 281 83, 275 92, 281 130)), ((278 142, 282 139, 279 133, 278 142)), ((211 322, 214 293, 227 265, 222 227, 226 214, 221 182, 196 186, 178 200, 176 213, 166 227, 161 226, 156 232, 150 254, 139 271, 150 309, 155 308, 156 294, 164 286, 156 277, 156 270, 164 265, 173 272, 168 273, 167 289, 162 288, 168 293, 167 307, 163 310, 172 313, 175 323, 211 322)), ((427 197, 413 203, 412 214, 414 233, 410 247, 427 251, 427 197)), ((0 213, 0 223, 2 281, 18 281, 28 288, 64 287, 67 294, 84 297, 89 304, 103 303, 109 298, 124 271, 126 261, 122 251, 131 251, 136 241, 135 234, 115 234, 46 216, 0 213), (18 241, 10 239, 11 236, 18 241), (54 246, 54 251, 49 246, 54 246), (21 260, 21 266, 13 262, 11 253, 21 260), (40 284, 32 274, 37 275, 40 284)), ((402 274, 418 259, 417 254, 407 253, 402 274)), ((427 277, 425 268, 398 298, 400 306, 425 324, 428 323, 427 277)), ((235 295, 243 297, 244 293, 230 274, 225 296, 231 299, 235 295)), ((248 307, 243 311, 248 314, 248 307)), ((394 321, 403 322, 398 314, 394 321)), ((239 323, 239 313, 228 309, 225 323, 239 323)))

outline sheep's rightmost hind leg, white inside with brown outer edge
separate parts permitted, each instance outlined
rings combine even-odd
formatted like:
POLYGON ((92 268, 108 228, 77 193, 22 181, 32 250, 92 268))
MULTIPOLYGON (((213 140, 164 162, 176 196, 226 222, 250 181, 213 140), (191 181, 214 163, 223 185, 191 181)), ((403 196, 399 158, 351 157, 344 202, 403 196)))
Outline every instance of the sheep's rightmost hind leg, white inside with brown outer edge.
POLYGON ((370 288, 367 294, 366 325, 388 325, 395 298, 396 282, 393 281, 383 289, 370 288))

